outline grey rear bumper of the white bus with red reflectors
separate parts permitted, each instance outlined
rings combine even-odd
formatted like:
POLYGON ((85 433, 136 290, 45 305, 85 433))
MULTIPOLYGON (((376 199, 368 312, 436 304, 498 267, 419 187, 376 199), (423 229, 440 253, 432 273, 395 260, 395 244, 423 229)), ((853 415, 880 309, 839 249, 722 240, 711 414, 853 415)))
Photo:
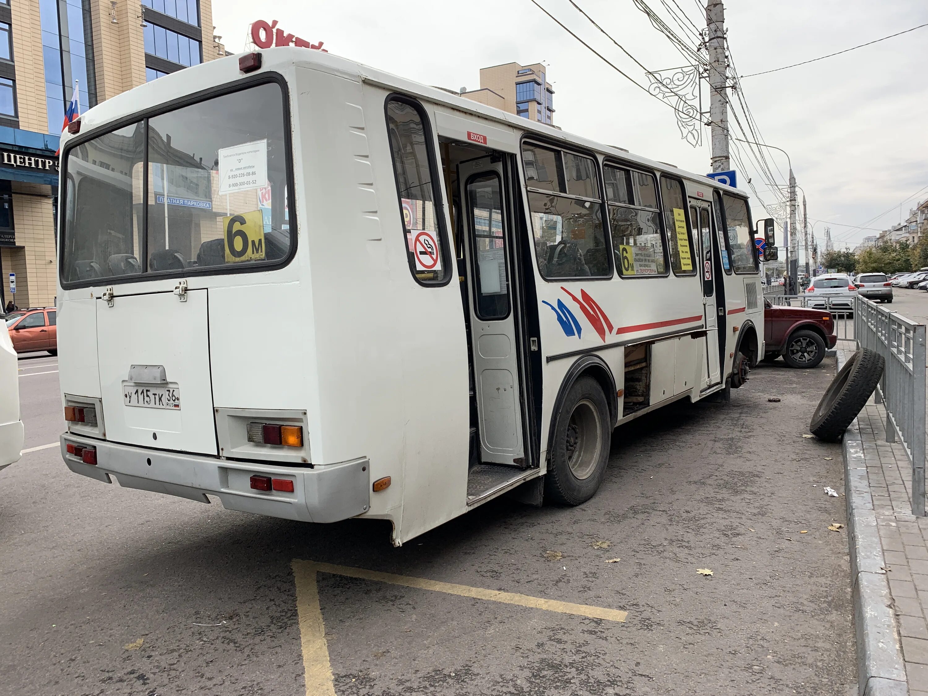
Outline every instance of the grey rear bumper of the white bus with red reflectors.
POLYGON ((210 502, 218 496, 226 509, 303 522, 339 522, 370 509, 370 466, 367 458, 313 469, 229 461, 179 452, 162 452, 117 445, 65 433, 60 438, 61 458, 74 473, 104 483, 111 477, 123 488, 138 488, 169 496, 210 502), (68 454, 68 444, 97 448, 97 464, 84 464, 68 454), (293 492, 257 491, 251 476, 290 480, 293 492))

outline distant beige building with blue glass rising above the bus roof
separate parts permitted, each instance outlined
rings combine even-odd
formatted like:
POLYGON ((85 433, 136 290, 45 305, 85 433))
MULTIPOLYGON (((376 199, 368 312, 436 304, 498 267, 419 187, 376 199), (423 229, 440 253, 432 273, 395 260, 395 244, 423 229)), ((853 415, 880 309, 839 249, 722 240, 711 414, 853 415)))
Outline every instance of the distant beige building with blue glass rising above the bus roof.
POLYGON ((554 90, 546 81, 545 66, 504 63, 480 69, 480 89, 461 97, 479 101, 522 118, 554 125, 554 90))

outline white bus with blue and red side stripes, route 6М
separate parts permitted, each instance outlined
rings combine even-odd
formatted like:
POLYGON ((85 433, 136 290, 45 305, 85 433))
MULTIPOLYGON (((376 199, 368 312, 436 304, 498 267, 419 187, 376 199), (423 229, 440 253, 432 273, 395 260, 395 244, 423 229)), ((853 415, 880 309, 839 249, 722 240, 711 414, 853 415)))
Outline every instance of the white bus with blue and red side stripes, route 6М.
POLYGON ((764 354, 747 197, 624 149, 302 48, 78 123, 58 342, 85 476, 399 545, 517 487, 584 502, 616 425, 764 354))

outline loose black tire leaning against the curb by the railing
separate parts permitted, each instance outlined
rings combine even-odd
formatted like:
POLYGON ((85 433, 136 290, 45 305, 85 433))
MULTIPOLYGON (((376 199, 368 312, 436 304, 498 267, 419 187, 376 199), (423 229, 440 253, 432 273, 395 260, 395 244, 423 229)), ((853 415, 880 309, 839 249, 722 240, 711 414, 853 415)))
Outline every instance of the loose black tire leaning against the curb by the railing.
POLYGON ((883 377, 883 367, 886 367, 883 355, 870 348, 861 348, 851 355, 818 402, 809 424, 812 434, 830 443, 841 440, 883 377))

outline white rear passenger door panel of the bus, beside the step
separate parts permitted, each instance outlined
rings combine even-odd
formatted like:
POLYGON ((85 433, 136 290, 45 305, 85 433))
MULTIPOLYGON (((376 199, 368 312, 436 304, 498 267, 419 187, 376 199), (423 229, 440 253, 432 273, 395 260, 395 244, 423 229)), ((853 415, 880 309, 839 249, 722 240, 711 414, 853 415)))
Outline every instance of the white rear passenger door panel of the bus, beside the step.
POLYGON ((518 342, 511 290, 511 239, 502 161, 458 165, 465 230, 471 360, 484 463, 523 466, 518 342))

